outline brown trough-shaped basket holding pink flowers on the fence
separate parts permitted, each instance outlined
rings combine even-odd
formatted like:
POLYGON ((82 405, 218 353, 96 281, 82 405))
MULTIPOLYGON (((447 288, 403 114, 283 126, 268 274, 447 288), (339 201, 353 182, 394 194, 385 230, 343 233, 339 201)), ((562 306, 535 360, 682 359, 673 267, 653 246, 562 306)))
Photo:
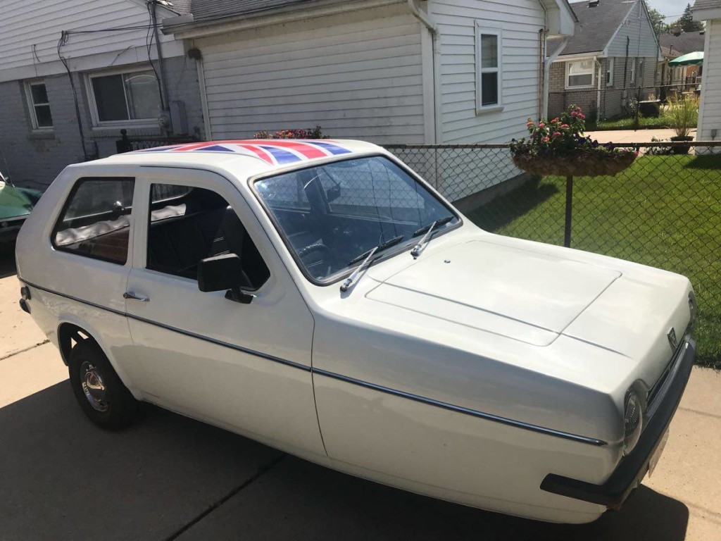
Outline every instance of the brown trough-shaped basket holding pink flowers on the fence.
POLYGON ((578 149, 572 154, 534 156, 517 154, 513 163, 518 169, 531 175, 559 175, 562 177, 615 177, 628 169, 636 159, 632 151, 609 152, 578 149))

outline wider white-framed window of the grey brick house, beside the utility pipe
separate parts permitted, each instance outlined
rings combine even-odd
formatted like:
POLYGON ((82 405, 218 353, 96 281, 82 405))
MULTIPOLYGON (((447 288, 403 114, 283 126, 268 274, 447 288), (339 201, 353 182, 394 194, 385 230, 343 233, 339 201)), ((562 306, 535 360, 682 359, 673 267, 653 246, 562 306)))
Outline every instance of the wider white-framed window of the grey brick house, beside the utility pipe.
POLYGON ((89 86, 96 124, 155 121, 162 107, 158 80, 152 70, 91 75, 89 86))

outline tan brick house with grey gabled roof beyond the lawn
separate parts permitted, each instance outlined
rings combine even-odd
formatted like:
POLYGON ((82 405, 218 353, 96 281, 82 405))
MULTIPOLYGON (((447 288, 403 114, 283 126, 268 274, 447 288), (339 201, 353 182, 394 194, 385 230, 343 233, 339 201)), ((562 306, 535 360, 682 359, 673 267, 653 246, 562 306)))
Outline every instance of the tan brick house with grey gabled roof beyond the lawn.
POLYGON ((614 118, 629 100, 655 98, 663 55, 645 3, 587 0, 571 8, 575 35, 549 39, 549 117, 574 103, 589 118, 614 118))

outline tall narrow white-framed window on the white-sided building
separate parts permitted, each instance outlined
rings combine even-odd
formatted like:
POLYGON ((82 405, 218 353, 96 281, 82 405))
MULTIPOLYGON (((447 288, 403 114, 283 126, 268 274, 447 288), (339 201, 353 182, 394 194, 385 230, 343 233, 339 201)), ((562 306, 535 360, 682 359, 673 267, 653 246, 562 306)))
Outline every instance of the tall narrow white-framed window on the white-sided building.
POLYGON ((476 28, 476 108, 479 111, 503 105, 502 48, 501 30, 476 28))

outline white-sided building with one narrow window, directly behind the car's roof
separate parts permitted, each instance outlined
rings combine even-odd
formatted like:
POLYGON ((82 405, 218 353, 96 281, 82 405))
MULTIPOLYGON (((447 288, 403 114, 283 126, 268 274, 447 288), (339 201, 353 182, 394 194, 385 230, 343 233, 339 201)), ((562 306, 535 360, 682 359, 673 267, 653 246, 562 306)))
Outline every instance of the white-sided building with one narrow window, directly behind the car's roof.
MULTIPOLYGON (((193 0, 164 20, 203 58, 212 138, 319 125, 383 145, 508 142, 541 113, 547 36, 575 26, 567 0, 270 4, 193 0)), ((493 170, 426 154, 412 165, 454 199, 519 173, 507 151, 493 170)))

